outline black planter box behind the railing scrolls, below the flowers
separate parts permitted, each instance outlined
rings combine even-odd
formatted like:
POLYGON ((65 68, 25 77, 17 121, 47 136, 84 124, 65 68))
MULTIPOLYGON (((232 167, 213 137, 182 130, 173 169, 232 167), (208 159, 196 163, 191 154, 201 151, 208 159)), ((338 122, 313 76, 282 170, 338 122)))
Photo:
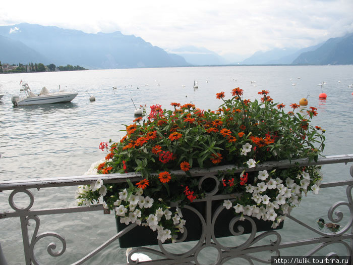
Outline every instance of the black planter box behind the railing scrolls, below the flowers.
MULTIPOLYGON (((218 208, 219 205, 223 203, 224 200, 215 200, 212 202, 212 216, 214 211, 218 208)), ((206 218, 206 202, 193 202, 191 203, 192 207, 196 208, 201 215, 206 218)), ((202 224, 199 217, 191 210, 183 208, 183 219, 186 220, 186 229, 188 230, 188 236, 184 240, 184 242, 195 241, 201 238, 202 234, 202 224)), ((234 215, 233 209, 223 209, 221 213, 218 215, 217 220, 215 222, 214 234, 215 237, 227 237, 233 236, 229 231, 229 223, 230 221, 236 217, 234 215)), ((252 217, 250 217, 252 218, 252 217)), ((269 231, 269 230, 278 230, 283 228, 283 221, 280 225, 273 229, 271 228, 272 221, 263 221, 258 220, 257 218, 252 218, 256 224, 257 232, 261 231, 269 231)), ((123 230, 127 227, 127 225, 120 223, 120 218, 116 217, 116 229, 117 232, 123 230)), ((206 221, 206 219, 205 219, 206 221)), ((252 227, 250 222, 248 221, 239 221, 234 226, 234 231, 237 232, 237 227, 243 226, 244 233, 249 234, 252 232, 252 227)), ((139 246, 147 246, 147 245, 158 245, 157 240, 157 231, 153 232, 149 227, 137 226, 133 230, 129 231, 127 234, 119 238, 119 243, 121 248, 128 247, 139 247, 139 246)))

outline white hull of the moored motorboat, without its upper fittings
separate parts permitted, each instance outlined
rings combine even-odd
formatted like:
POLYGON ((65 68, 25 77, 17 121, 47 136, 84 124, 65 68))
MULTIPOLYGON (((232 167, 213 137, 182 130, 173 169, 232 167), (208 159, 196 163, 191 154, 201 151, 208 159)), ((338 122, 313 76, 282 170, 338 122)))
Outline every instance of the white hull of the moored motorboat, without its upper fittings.
POLYGON ((70 102, 78 93, 58 93, 52 95, 26 97, 16 102, 18 106, 70 102))

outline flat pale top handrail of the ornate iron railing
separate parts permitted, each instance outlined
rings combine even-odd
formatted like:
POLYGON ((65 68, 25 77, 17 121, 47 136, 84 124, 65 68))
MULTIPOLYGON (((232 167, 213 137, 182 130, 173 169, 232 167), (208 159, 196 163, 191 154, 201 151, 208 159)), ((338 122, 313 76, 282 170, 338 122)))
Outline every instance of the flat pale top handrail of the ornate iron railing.
MULTIPOLYGON (((245 168, 245 167, 234 167, 234 165, 224 165, 212 167, 211 169, 200 169, 195 168, 190 170, 190 174, 193 177, 203 176, 204 174, 217 174, 218 171, 225 171, 233 169, 234 172, 246 172, 259 171, 265 169, 273 168, 289 168, 295 166, 312 166, 312 165, 327 165, 327 164, 338 164, 353 162, 353 154, 340 154, 340 155, 330 155, 325 157, 318 158, 317 162, 311 161, 309 163, 308 158, 299 158, 296 160, 281 160, 281 161, 269 161, 261 164, 257 164, 254 168, 245 168)), ((185 172, 182 170, 171 171, 171 174, 174 175, 184 175, 185 172)), ((0 192, 3 190, 13 190, 13 189, 30 189, 30 188, 48 188, 48 187, 61 187, 61 186, 76 186, 76 185, 86 185, 90 184, 93 181, 96 181, 98 178, 102 179, 104 183, 117 183, 125 182, 126 179, 132 181, 141 179, 140 173, 114 173, 106 175, 81 175, 81 176, 71 176, 71 177, 57 177, 57 178, 36 178, 29 180, 9 180, 0 182, 0 192)))

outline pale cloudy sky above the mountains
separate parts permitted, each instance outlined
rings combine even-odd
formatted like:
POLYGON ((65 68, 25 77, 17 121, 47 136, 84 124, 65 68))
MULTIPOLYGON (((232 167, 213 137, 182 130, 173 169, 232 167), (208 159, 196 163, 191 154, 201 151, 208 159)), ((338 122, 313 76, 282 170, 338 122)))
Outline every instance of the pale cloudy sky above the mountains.
POLYGON ((353 32, 353 0, 2 0, 0 25, 21 22, 87 33, 119 30, 169 50, 194 45, 251 55, 353 32))

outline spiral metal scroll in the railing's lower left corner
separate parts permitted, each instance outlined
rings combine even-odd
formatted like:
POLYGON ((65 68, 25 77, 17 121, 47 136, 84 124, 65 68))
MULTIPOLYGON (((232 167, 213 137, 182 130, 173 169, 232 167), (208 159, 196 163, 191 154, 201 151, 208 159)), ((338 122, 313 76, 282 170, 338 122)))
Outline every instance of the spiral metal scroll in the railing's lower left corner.
POLYGON ((61 249, 61 251, 53 252, 53 250, 56 249, 56 243, 54 243, 54 242, 51 242, 47 246, 47 251, 48 251, 49 255, 51 255, 53 257, 61 256, 66 250, 66 241, 65 241, 65 239, 61 235, 59 235, 59 234, 57 234, 55 232, 46 232, 46 233, 42 233, 40 235, 37 235, 38 234, 38 230, 39 230, 39 225, 40 225, 39 217, 38 216, 29 216, 29 217, 27 217, 26 218, 27 225, 30 225, 29 224, 29 220, 34 220, 35 223, 36 223, 36 226, 34 228, 34 232, 33 232, 33 235, 32 235, 32 239, 31 239, 31 243, 29 245, 29 250, 30 250, 30 255, 31 255, 32 262, 34 264, 36 264, 36 265, 39 265, 39 261, 34 256, 34 246, 40 239, 42 239, 44 237, 55 237, 55 238, 59 239, 62 242, 63 248, 61 249))

